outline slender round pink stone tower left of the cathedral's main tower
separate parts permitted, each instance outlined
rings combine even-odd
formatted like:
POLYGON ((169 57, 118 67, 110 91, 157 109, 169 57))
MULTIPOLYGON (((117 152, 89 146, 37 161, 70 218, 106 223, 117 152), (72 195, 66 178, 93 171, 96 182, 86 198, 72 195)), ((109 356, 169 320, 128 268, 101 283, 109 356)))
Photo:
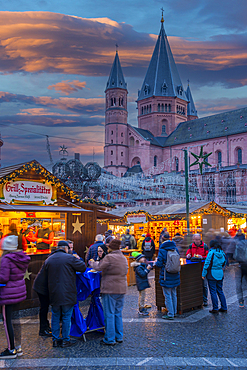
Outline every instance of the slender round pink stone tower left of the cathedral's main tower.
POLYGON ((104 168, 119 177, 128 169, 127 94, 127 84, 116 51, 105 90, 104 168))

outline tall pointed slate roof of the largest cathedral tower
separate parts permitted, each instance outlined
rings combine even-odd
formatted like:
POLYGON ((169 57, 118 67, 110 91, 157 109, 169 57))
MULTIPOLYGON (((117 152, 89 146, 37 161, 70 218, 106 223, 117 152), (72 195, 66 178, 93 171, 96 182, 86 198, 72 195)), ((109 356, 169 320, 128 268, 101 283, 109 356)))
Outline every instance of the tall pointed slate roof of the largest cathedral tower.
POLYGON ((151 96, 178 96, 185 101, 188 100, 178 74, 163 22, 162 18, 158 40, 137 101, 151 96))

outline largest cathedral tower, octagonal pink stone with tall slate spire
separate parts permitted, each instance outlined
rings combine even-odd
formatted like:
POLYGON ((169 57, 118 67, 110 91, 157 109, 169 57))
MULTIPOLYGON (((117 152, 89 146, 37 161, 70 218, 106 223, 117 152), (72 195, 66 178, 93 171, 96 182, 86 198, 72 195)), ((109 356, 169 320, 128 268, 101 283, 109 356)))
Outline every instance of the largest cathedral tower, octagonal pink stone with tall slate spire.
POLYGON ((162 14, 158 40, 137 99, 138 127, 154 136, 168 136, 180 122, 187 121, 187 105, 162 14))

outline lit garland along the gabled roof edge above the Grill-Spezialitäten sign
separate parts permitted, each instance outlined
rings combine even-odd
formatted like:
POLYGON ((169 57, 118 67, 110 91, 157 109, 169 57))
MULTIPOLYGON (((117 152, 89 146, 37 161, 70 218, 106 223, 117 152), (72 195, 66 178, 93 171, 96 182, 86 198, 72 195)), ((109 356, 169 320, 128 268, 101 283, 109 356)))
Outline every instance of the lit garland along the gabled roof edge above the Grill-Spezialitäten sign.
POLYGON ((36 171, 39 175, 44 177, 46 181, 50 182, 51 185, 55 186, 56 188, 61 188, 66 196, 78 203, 91 203, 104 207, 115 208, 115 205, 113 203, 97 201, 92 198, 87 198, 83 200, 80 199, 79 195, 77 195, 73 190, 71 190, 67 185, 61 182, 56 176, 47 171, 43 166, 41 166, 41 164, 39 164, 35 160, 24 164, 21 168, 14 170, 14 172, 2 177, 0 179, 0 184, 4 184, 7 181, 14 180, 28 171, 36 171))

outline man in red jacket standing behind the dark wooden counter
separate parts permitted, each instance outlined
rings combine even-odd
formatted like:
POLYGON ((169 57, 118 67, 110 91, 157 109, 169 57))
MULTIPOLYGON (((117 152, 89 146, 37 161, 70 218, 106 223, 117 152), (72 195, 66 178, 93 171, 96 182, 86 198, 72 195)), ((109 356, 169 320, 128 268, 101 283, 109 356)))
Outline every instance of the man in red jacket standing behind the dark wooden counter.
MULTIPOLYGON (((208 255, 208 246, 202 241, 200 234, 194 234, 192 238, 193 243, 189 246, 186 252, 186 258, 191 259, 192 257, 197 257, 201 259, 206 259, 208 255)), ((203 286, 203 306, 208 305, 208 286, 207 279, 202 280, 203 286)))

